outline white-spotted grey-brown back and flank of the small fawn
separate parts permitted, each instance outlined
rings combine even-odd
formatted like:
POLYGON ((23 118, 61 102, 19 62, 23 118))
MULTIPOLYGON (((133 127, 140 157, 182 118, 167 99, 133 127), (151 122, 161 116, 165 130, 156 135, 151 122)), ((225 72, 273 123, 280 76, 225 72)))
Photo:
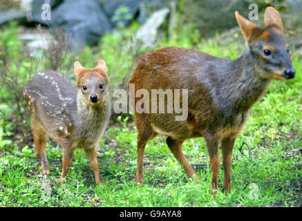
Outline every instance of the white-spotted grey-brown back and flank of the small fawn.
POLYGON ((52 137, 70 135, 77 89, 67 77, 52 70, 38 72, 26 84, 23 95, 36 125, 52 137))

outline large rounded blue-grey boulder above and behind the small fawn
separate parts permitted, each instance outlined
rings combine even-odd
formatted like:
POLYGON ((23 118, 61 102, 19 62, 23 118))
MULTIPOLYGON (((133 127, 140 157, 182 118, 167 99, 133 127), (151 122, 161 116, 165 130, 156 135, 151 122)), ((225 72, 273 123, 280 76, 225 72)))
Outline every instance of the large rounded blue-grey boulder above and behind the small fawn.
POLYGON ((63 28, 70 37, 70 46, 82 48, 100 41, 111 23, 96 0, 66 0, 52 15, 52 28, 63 28))

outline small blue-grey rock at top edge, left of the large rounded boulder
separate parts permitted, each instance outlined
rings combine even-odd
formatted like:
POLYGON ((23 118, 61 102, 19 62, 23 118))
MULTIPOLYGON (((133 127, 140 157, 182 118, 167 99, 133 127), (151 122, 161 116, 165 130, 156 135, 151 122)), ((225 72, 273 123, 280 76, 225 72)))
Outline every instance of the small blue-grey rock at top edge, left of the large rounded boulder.
POLYGON ((42 8, 41 6, 44 3, 49 3, 50 5, 50 10, 51 12, 53 12, 53 10, 60 4, 62 3, 62 0, 34 0, 32 1, 32 21, 35 21, 37 23, 42 23, 44 25, 50 25, 51 24, 51 19, 50 20, 46 20, 46 19, 42 19, 41 15, 42 15, 42 8))

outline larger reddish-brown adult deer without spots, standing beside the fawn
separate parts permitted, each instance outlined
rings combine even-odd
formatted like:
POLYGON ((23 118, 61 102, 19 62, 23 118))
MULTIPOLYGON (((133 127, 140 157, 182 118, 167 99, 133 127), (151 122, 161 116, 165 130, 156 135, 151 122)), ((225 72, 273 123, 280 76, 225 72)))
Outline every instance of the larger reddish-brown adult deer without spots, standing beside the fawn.
MULTIPOLYGON (((192 137, 204 137, 211 165, 211 189, 218 189, 218 146, 221 142, 223 188, 231 192, 232 149, 252 106, 265 93, 272 79, 292 79, 295 75, 279 12, 272 7, 266 8, 265 28, 238 12, 235 15, 247 46, 238 59, 223 59, 176 47, 149 52, 138 59, 130 81, 135 85, 135 93, 141 88, 148 91, 188 89, 188 115, 186 120, 176 121, 177 113, 151 113, 151 108, 143 113, 135 111, 137 184, 143 181, 144 147, 156 135, 167 136, 167 145, 187 175, 199 180, 182 153, 182 143, 192 137)), ((138 101, 141 104, 141 99, 144 98, 135 97, 134 104, 138 101)), ((164 105, 167 110, 167 103, 164 105)))

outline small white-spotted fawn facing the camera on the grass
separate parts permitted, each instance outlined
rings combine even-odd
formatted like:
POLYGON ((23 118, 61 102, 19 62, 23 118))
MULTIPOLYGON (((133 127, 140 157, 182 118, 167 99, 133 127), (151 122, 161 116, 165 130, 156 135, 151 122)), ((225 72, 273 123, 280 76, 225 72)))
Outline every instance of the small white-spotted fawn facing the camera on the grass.
POLYGON ((53 70, 37 72, 27 82, 23 95, 30 108, 36 157, 42 174, 49 175, 46 157, 47 137, 63 147, 61 181, 68 173, 75 148, 84 148, 97 184, 102 184, 97 162, 97 144, 110 118, 106 64, 84 68, 75 61, 77 87, 53 70))

